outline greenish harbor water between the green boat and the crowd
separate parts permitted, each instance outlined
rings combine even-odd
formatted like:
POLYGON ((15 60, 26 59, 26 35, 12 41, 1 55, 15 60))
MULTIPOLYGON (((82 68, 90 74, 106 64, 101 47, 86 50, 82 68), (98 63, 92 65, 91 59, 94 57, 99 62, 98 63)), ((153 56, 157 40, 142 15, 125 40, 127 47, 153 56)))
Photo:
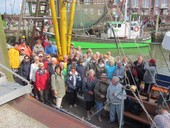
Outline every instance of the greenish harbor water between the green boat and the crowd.
POLYGON ((117 49, 94 49, 93 53, 96 51, 103 54, 106 54, 107 51, 111 51, 112 56, 115 57, 115 59, 118 56, 121 58, 127 56, 131 62, 137 60, 139 55, 142 55, 146 62, 148 62, 150 58, 154 58, 156 59, 157 72, 170 76, 170 51, 163 49, 161 44, 151 44, 148 47, 142 48, 120 48, 120 54, 118 54, 117 49))

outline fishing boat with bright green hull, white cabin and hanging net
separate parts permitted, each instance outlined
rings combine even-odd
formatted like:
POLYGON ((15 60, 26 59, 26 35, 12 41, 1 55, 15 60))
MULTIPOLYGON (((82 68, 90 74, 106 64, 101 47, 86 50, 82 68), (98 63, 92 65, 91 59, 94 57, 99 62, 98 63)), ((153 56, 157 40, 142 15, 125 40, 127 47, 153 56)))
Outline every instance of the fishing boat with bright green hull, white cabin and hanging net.
MULTIPOLYGON (((35 2, 28 3, 30 14, 34 15, 36 11, 35 2)), ((118 9, 114 3, 109 3, 109 1, 93 4, 76 3, 73 31, 71 33, 72 43, 75 44, 75 47, 115 49, 149 46, 151 36, 149 33, 144 34, 140 23, 134 19, 131 19, 131 21, 112 19, 110 17, 112 6, 118 9)), ((70 8, 71 6, 68 4, 67 19, 70 18, 70 8)), ((116 11, 114 13, 116 16, 116 11)), ((46 20, 46 22, 52 23, 51 20, 46 20)), ((53 40, 55 34, 52 26, 53 24, 46 25, 43 33, 50 35, 53 40)), ((38 27, 36 29, 41 30, 38 27)))

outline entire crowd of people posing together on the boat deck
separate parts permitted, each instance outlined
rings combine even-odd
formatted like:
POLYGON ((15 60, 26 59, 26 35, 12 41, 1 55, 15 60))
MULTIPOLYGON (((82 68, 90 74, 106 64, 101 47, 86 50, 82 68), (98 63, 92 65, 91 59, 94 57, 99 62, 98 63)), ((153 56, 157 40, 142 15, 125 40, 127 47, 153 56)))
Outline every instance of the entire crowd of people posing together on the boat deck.
MULTIPOLYGON (((156 61, 144 62, 143 57, 130 63, 128 57, 115 58, 108 51, 106 54, 93 53, 88 49, 85 54, 79 46, 71 44, 70 54, 59 61, 57 48, 47 36, 38 38, 31 48, 25 37, 20 43, 14 43, 9 49, 9 62, 13 71, 33 84, 34 97, 41 102, 55 99, 56 107, 62 107, 63 97, 69 95, 69 107, 77 107, 77 94, 84 96, 87 118, 96 105, 97 118, 101 122, 101 112, 105 103, 110 105, 110 122, 118 117, 123 126, 124 85, 136 85, 140 91, 150 98, 152 86, 155 84, 156 61), (141 88, 141 82, 145 83, 141 88)), ((25 84, 23 81, 19 82, 25 84)))

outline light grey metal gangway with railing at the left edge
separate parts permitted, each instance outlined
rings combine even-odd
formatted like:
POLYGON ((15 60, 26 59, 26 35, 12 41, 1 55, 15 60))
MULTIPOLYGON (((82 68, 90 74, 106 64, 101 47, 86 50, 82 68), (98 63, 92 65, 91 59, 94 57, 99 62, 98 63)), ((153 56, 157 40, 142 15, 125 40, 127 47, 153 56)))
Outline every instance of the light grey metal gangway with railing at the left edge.
POLYGON ((20 78, 22 81, 26 82, 27 85, 23 86, 16 82, 9 81, 6 75, 0 72, 0 105, 5 104, 13 99, 23 96, 27 93, 31 93, 32 85, 26 79, 22 78, 12 70, 0 64, 0 69, 4 69, 14 76, 20 78))

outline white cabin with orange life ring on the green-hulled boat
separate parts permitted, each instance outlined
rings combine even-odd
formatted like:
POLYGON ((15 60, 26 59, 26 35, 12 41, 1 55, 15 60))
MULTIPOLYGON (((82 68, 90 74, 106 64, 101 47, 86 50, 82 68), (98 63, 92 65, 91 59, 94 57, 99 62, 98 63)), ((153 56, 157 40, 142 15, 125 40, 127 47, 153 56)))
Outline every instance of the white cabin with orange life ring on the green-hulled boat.
POLYGON ((107 22, 107 37, 114 37, 113 31, 115 32, 116 37, 126 38, 126 39, 135 39, 140 38, 141 28, 137 21, 130 22, 107 22))

